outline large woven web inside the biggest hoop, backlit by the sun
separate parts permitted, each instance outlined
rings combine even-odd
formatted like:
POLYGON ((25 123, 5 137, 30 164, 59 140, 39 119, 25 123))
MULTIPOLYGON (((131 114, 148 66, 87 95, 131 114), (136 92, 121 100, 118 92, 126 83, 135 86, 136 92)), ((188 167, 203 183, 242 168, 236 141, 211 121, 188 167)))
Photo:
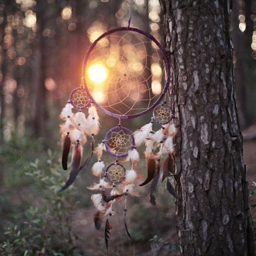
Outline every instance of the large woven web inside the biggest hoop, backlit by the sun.
POLYGON ((94 100, 107 111, 133 115, 147 110, 162 93, 165 71, 162 52, 146 35, 116 31, 102 37, 87 60, 86 86, 94 100), (91 65, 103 65, 102 83, 89 78, 91 65))

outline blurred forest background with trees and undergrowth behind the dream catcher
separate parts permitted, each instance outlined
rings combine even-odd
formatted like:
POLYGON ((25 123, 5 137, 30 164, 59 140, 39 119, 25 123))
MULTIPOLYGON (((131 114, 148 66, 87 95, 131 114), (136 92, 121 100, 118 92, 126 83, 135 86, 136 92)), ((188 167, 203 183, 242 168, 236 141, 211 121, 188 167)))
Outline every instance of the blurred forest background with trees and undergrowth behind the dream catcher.
MULTIPOLYGON (((158 0, 134 0, 132 14, 131 27, 162 42, 158 0)), ((69 175, 60 166, 59 113, 81 83, 90 44, 110 29, 127 26, 128 15, 128 0, 0 1, 2 255, 105 255, 104 233, 94 229, 91 193, 86 189, 93 181, 88 175, 90 166, 67 193, 56 193, 69 175)), ((255 1, 233 1, 232 37, 251 211, 256 218, 255 1)), ((104 118, 108 118, 104 123, 114 122, 104 118)), ((144 124, 138 118, 129 122, 133 130, 144 124)), ((102 127, 102 134, 106 129, 102 127)), ((120 209, 111 231, 110 253, 179 255, 174 200, 162 185, 157 206, 148 201, 145 196, 131 201, 128 215, 133 242, 125 235, 120 209)))

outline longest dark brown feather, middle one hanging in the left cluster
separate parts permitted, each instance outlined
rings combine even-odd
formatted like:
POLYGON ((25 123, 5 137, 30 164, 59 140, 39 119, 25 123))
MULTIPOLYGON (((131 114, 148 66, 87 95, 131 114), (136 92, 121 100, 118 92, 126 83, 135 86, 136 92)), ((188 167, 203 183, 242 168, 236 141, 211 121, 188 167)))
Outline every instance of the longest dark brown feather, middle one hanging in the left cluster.
POLYGON ((77 174, 79 173, 80 164, 82 161, 82 148, 80 142, 76 142, 76 145, 73 149, 72 160, 71 160, 71 172, 68 181, 65 186, 58 192, 62 192, 67 189, 76 179, 77 174))

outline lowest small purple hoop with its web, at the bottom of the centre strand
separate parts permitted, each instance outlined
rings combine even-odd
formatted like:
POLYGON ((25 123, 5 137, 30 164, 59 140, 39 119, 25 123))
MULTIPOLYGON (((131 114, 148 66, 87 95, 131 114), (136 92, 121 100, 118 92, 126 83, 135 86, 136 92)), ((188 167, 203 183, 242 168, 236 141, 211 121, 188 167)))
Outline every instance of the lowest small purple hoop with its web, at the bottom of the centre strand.
POLYGON ((125 167, 121 163, 110 163, 106 168, 105 176, 111 183, 120 183, 125 178, 125 167))

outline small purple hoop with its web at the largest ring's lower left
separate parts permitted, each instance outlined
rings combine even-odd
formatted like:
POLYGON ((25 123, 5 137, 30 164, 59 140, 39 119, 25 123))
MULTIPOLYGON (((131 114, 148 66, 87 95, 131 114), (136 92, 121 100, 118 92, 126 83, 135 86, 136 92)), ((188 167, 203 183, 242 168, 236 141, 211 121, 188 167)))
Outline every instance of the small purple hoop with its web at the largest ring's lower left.
POLYGON ((74 89, 69 96, 69 101, 76 109, 87 108, 91 102, 83 87, 74 89))

